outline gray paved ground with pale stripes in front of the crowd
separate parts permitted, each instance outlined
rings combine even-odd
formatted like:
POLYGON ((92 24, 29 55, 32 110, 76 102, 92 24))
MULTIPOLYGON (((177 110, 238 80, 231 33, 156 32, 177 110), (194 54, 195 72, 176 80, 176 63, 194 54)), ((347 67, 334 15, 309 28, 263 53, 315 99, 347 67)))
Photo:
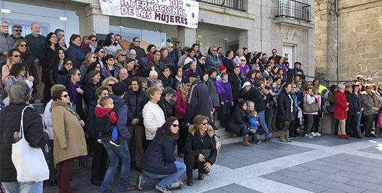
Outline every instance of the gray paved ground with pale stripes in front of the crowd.
MULTIPOLYGON (((178 161, 182 161, 176 156, 178 161)), ((72 172, 72 187, 78 192, 98 192, 90 183, 90 170, 72 172)), ((138 172, 131 167, 131 183, 138 172)), ((241 143, 222 145, 218 161, 198 181, 193 172, 193 186, 173 192, 382 192, 382 139, 337 139, 334 135, 299 136, 292 143, 278 139, 253 147, 241 143)), ((120 174, 114 177, 112 190, 120 192, 120 174)), ((44 183, 44 193, 58 192, 58 187, 44 183)), ((143 191, 156 192, 144 186, 143 191)))

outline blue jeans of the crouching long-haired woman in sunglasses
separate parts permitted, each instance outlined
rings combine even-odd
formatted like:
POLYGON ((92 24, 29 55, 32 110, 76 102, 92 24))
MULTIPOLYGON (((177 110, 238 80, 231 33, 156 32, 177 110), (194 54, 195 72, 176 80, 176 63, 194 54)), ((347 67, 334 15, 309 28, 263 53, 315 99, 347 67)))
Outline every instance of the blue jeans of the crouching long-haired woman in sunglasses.
POLYGON ((176 179, 179 178, 185 171, 186 171, 186 165, 184 163, 175 161, 176 169, 178 169, 178 172, 172 173, 172 174, 153 174, 150 172, 145 172, 147 176, 142 176, 142 185, 149 185, 149 186, 155 186, 158 184, 160 187, 167 187, 171 185, 176 179))

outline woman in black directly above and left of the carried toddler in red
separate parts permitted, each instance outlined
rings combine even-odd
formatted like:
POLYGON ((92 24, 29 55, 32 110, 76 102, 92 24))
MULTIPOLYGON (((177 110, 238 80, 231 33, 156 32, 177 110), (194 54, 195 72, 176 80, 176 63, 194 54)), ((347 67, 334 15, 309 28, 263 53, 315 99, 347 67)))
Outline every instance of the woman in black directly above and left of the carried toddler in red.
POLYGON ((85 77, 83 84, 83 101, 87 106, 96 101, 96 89, 100 87, 100 72, 98 70, 90 71, 85 77))

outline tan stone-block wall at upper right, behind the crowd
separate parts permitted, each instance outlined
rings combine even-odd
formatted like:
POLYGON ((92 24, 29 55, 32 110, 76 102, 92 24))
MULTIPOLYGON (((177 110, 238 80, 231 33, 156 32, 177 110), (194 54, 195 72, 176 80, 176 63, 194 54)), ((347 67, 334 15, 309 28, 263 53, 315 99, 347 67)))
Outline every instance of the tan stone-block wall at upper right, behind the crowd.
POLYGON ((316 0, 315 8, 316 76, 381 82, 382 1, 316 0))

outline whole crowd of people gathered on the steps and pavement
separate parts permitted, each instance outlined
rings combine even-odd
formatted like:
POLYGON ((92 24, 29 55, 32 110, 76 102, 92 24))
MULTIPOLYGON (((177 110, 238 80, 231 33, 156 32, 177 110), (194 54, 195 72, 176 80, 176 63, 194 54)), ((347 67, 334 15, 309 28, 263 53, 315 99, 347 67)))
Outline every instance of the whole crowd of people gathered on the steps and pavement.
POLYGON ((380 134, 372 132, 372 124, 382 125, 382 83, 375 86, 368 79, 363 85, 359 76, 357 83, 328 90, 319 79, 306 81, 302 64, 292 66, 276 49, 269 57, 248 48, 224 55, 214 45, 202 53, 197 43, 182 47, 179 41, 145 49, 138 37, 124 48, 122 37, 114 33, 105 40, 72 34, 67 47, 61 29, 44 37, 39 23, 32 23, 32 34, 21 37, 21 26, 12 26, 9 35, 8 23, 0 24, 1 99, 9 104, 5 107, 0 99, 1 184, 6 192, 42 192, 41 182, 17 182, 11 161, 21 110, 36 103, 37 96, 47 130, 42 121, 32 120, 39 113, 30 109, 25 111, 31 119, 24 121, 25 138, 31 146, 49 146, 49 182, 60 192, 77 191, 70 187, 70 174, 74 159, 86 167, 86 156, 93 156, 89 180, 103 193, 112 192, 116 172, 121 191, 149 185, 171 192, 182 187, 179 177, 186 171, 191 186, 193 170, 203 180, 217 159, 214 130, 242 136, 245 146, 262 142, 257 134, 270 141, 273 132, 281 132, 279 141, 288 143, 301 128, 306 138, 321 136, 324 109, 337 120, 335 134, 341 139, 380 134), (140 173, 136 185, 129 180, 130 165, 140 173))

